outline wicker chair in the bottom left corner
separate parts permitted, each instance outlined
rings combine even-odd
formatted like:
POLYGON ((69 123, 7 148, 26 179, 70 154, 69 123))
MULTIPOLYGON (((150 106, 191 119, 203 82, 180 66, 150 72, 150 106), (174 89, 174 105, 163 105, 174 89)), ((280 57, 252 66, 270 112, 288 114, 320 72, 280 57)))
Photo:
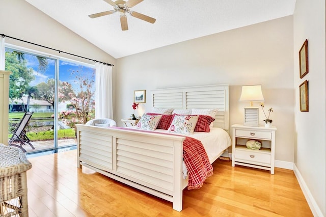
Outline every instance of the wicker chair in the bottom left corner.
POLYGON ((23 151, 0 144, 0 216, 28 216, 26 171, 32 164, 23 151))

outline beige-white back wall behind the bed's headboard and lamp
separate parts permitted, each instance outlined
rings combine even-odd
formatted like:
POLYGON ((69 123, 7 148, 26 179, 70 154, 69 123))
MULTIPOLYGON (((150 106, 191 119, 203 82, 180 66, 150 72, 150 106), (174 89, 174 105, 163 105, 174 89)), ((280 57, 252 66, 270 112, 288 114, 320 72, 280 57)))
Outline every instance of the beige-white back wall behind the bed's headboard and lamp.
MULTIPOLYGON (((293 162, 292 39, 288 16, 118 59, 115 119, 122 126, 119 120, 130 117, 134 90, 147 91, 147 103, 137 111, 142 115, 151 110, 150 90, 229 84, 230 123, 243 123, 243 107, 249 103, 238 101, 241 86, 261 84, 265 106, 274 108, 271 119, 278 127, 276 159, 293 162)), ((261 109, 259 114, 263 124, 261 109)))

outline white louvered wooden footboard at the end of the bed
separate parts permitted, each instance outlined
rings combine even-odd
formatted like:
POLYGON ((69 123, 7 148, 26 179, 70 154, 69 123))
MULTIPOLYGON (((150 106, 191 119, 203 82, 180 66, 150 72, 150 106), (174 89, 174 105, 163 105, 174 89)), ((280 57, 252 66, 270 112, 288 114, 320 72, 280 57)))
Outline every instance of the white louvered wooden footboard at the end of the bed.
POLYGON ((171 201, 182 210, 182 143, 176 135, 77 124, 77 166, 171 201))

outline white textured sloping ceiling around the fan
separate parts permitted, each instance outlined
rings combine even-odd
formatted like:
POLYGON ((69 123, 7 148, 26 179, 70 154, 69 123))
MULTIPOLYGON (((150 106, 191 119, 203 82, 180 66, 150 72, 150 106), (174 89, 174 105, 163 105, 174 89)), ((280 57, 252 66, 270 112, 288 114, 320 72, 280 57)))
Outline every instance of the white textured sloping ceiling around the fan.
POLYGON ((121 31, 118 13, 103 0, 25 0, 114 58, 292 15, 295 0, 144 0, 132 11, 156 18, 154 24, 127 14, 121 31))

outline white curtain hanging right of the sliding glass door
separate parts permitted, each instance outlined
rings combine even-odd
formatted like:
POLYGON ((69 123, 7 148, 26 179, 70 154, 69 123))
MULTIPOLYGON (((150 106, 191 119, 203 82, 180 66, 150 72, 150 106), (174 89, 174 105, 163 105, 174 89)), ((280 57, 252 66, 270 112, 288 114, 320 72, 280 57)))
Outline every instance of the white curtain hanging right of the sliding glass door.
POLYGON ((95 63, 95 118, 113 119, 112 66, 95 63))

